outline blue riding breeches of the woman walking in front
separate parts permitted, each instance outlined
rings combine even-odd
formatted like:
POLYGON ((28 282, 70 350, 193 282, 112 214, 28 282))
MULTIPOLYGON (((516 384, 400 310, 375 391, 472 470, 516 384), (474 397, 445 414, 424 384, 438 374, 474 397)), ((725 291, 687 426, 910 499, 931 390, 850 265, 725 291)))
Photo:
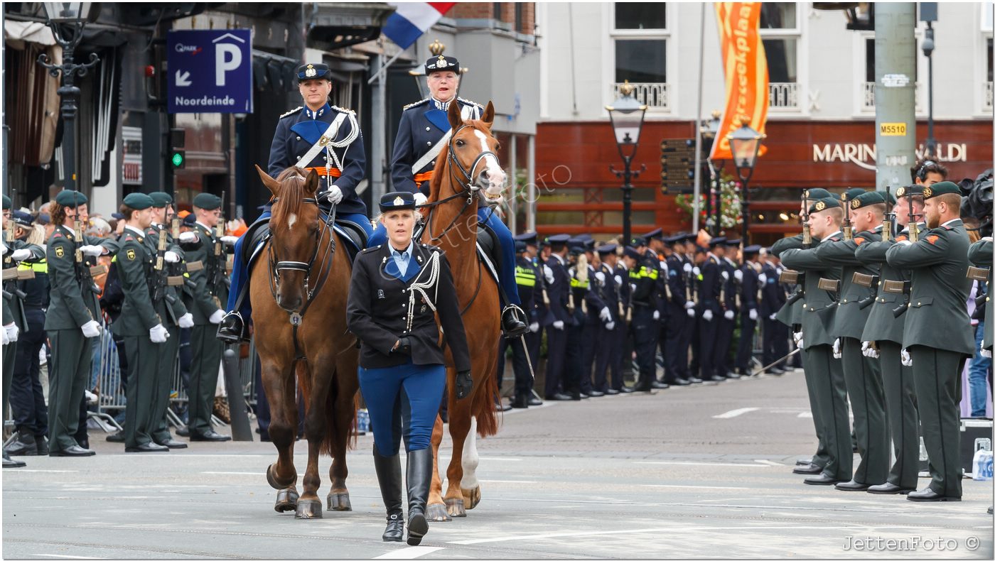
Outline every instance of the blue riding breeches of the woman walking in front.
POLYGON ((388 368, 359 368, 359 389, 373 426, 373 444, 388 458, 432 444, 432 427, 446 387, 442 364, 410 362, 388 368))

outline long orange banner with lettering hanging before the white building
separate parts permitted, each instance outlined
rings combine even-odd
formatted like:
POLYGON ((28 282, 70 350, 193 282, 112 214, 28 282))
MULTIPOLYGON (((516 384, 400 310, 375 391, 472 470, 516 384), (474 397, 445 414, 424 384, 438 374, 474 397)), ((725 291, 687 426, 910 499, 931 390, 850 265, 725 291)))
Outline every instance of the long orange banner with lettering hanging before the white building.
MULTIPOLYGON (((725 69, 725 111, 715 135, 709 157, 713 160, 732 158, 729 141, 733 130, 749 125, 764 133, 767 125, 767 54, 760 41, 761 2, 715 2, 715 19, 722 46, 722 66, 725 69)), ((760 147, 760 155, 767 151, 760 147)))

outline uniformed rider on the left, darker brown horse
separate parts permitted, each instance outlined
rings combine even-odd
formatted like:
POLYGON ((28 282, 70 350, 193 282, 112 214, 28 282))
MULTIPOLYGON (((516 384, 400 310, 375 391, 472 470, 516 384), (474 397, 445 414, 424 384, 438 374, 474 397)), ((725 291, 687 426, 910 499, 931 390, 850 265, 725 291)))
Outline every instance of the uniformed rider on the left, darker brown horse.
MULTIPOLYGON (((280 115, 268 171, 272 177, 292 165, 305 173, 316 171, 321 176, 316 197, 322 211, 327 213, 335 205, 335 221, 360 227, 369 239, 373 229, 366 205, 356 193, 356 185, 366 173, 366 155, 355 111, 328 104, 331 71, 326 65, 298 67, 298 89, 304 105, 280 115)), ((267 203, 259 221, 269 221, 271 205, 272 201, 267 203)), ((249 270, 242 259, 246 238, 243 236, 235 245, 228 313, 218 328, 218 337, 230 342, 248 340, 245 324, 251 313, 249 270)))

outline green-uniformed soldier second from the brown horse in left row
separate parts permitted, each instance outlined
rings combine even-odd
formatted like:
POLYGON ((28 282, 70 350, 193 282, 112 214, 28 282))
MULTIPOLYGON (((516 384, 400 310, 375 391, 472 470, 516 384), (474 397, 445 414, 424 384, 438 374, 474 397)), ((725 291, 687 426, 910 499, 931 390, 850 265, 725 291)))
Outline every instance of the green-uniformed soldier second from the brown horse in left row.
MULTIPOLYGON (((154 300, 164 299, 166 312, 169 315, 168 318, 163 317, 165 320, 163 326, 169 331, 169 337, 166 342, 161 344, 162 348, 160 349, 162 360, 159 361, 158 365, 162 372, 157 378, 159 386, 155 390, 155 411, 153 411, 152 416, 158 421, 152 431, 152 441, 166 448, 183 449, 187 447, 186 443, 177 441, 169 433, 166 409, 169 407, 173 372, 176 368, 176 362, 179 360, 180 329, 193 327, 193 314, 187 311, 186 306, 183 305, 182 284, 179 286, 171 285, 168 281, 168 279, 183 280, 182 274, 170 275, 170 273, 179 273, 174 271, 174 268, 182 267, 183 260, 183 250, 177 245, 178 240, 173 240, 168 227, 173 215, 173 198, 169 193, 162 191, 149 193, 148 196, 152 199, 152 223, 145 229, 145 247, 152 252, 156 261, 158 260, 159 236, 166 238, 165 246, 167 248, 162 256, 161 271, 155 272, 159 279, 155 280, 157 288, 152 291, 152 299, 155 304, 158 302, 154 300)), ((189 236, 189 238, 195 239, 196 237, 189 236)))

